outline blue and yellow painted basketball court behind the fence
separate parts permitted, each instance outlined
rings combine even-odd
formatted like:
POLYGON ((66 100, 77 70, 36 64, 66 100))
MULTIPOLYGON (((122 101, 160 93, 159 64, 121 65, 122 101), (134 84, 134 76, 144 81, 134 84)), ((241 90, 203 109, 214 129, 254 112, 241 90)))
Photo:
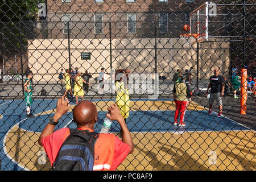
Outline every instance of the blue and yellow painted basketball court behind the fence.
MULTIPOLYGON (((55 113, 57 100, 34 100, 33 118, 26 118, 22 100, 1 101, 2 168, 9 170, 48 170, 47 157, 37 140, 55 113), (9 109, 15 108, 15 113, 9 109), (47 159, 47 161, 44 161, 47 159), (43 162, 46 162, 44 164, 43 162), (42 164, 43 163, 43 164, 42 164)), ((98 110, 95 131, 100 132, 102 121, 110 104, 109 100, 92 100, 98 110)), ((71 109, 75 104, 71 101, 71 109)), ((255 131, 232 119, 208 115, 205 107, 192 102, 185 113, 185 127, 173 125, 175 103, 172 100, 131 100, 130 129, 135 151, 118 167, 118 170, 240 170, 252 169, 255 164, 255 131), (246 142, 251 139, 252 143, 246 142), (231 142, 232 141, 232 142, 231 142), (247 151, 247 148, 251 148, 247 151), (204 150, 205 149, 205 150, 204 150), (215 153, 214 153, 214 152, 215 153), (213 153, 211 153, 213 152, 213 153), (236 152, 239 153, 236 156, 236 152), (242 156, 244 154, 244 156, 242 156), (208 162, 216 155, 216 164, 208 162), (231 162, 235 158, 236 162, 231 162), (241 160, 241 161, 240 161, 241 160), (246 161, 251 160, 250 165, 246 161), (179 165, 176 165, 179 164, 179 165)), ((61 119, 57 129, 76 128, 71 109, 61 119)), ((112 133, 119 134, 119 125, 112 124, 112 133)), ((119 135, 118 135, 119 137, 119 135)))

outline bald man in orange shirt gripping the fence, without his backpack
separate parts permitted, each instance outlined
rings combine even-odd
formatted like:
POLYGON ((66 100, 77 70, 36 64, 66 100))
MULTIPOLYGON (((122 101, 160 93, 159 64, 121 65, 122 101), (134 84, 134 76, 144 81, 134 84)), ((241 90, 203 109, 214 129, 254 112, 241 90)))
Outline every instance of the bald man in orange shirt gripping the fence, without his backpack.
MULTIPOLYGON (((56 131, 54 129, 59 123, 59 119, 67 113, 70 107, 71 105, 68 104, 68 100, 65 100, 64 96, 57 101, 56 113, 49 119, 49 123, 42 131, 38 140, 38 143, 44 147, 51 166, 53 166, 64 140, 70 134, 68 128, 56 131)), ((126 126, 118 106, 113 104, 108 108, 108 111, 106 117, 117 121, 123 130, 122 141, 113 134, 98 134, 97 141, 94 145, 93 171, 113 171, 125 160, 128 154, 134 151, 130 131, 126 126)), ((97 122, 98 113, 96 106, 92 102, 87 100, 81 101, 73 108, 72 112, 73 121, 77 124, 78 130, 94 131, 94 124, 97 122)))

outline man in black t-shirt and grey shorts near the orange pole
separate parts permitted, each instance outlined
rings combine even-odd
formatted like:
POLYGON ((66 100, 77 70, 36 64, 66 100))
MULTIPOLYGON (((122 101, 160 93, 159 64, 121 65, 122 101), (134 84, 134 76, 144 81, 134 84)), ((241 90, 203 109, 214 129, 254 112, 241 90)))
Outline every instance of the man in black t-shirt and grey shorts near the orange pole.
POLYGON ((210 98, 209 98, 209 112, 212 114, 212 107, 214 100, 217 100, 219 112, 217 117, 222 117, 222 97, 224 96, 224 78, 220 76, 220 69, 214 69, 214 75, 210 76, 210 82, 207 88, 206 94, 208 94, 210 89, 210 98))

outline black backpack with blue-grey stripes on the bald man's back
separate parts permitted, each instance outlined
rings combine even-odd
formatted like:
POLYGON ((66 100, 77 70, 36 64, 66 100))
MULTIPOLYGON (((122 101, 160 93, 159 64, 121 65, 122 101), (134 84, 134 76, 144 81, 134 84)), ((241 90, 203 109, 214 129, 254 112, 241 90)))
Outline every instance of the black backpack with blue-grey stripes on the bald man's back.
POLYGON ((92 171, 94 144, 98 133, 69 129, 70 135, 63 142, 53 163, 53 171, 92 171))

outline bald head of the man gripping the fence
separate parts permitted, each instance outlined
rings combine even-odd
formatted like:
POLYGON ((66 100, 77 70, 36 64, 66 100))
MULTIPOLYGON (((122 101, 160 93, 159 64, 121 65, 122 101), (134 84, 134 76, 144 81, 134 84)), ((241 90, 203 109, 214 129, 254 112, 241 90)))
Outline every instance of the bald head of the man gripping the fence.
POLYGON ((73 109, 73 119, 77 126, 93 127, 97 116, 96 106, 91 101, 81 101, 73 109))

